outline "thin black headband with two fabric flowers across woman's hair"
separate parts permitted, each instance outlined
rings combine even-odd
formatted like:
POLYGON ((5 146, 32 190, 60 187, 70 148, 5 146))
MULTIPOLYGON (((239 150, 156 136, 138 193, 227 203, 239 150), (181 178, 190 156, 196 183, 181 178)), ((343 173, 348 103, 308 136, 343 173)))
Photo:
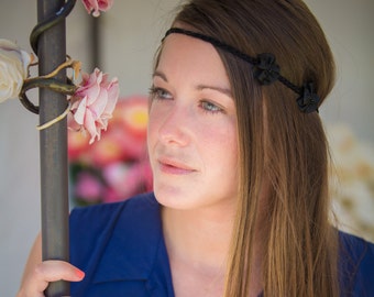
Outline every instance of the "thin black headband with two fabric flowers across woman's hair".
POLYGON ((292 89, 294 92, 298 94, 300 97, 297 98, 296 102, 301 112, 309 113, 317 111, 318 112, 318 103, 320 98, 314 90, 314 82, 309 81, 304 84, 302 87, 298 87, 290 82, 288 79, 280 75, 280 67, 275 64, 275 56, 270 53, 258 54, 256 57, 252 57, 240 52, 238 48, 222 43, 219 40, 216 40, 211 36, 204 35, 198 32, 193 32, 189 30, 180 29, 180 28, 172 28, 169 29, 163 38, 163 41, 172 33, 178 33, 188 35, 195 38, 199 38, 205 42, 209 42, 213 46, 221 48, 243 61, 251 64, 253 66, 254 77, 257 79, 260 85, 271 85, 274 81, 278 80, 287 88, 292 89))

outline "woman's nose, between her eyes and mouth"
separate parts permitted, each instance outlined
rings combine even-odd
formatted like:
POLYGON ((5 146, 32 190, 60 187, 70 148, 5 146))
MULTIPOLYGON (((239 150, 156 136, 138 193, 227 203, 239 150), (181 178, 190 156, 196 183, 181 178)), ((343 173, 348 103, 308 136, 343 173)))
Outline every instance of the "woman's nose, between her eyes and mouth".
POLYGON ((168 145, 185 146, 189 142, 189 124, 191 119, 188 110, 183 106, 174 106, 165 114, 158 130, 158 138, 162 143, 168 145))

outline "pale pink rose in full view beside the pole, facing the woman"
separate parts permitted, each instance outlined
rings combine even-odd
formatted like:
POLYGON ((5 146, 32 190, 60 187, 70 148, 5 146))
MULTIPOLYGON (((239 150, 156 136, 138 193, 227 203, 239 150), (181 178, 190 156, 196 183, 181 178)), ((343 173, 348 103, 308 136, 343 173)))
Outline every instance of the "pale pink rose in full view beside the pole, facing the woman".
POLYGON ((84 73, 81 76, 82 81, 70 98, 69 117, 74 121, 69 121, 69 128, 87 131, 91 144, 96 138, 100 140, 101 130, 107 130, 119 97, 119 85, 117 78, 108 81, 108 75, 98 68, 91 75, 84 73))

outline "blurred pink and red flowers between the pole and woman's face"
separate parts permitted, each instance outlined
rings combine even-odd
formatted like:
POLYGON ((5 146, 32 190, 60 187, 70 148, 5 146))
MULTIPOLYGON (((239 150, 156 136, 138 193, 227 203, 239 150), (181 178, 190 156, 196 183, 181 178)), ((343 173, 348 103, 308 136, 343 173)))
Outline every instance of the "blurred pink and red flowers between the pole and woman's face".
POLYGON ((68 134, 70 197, 75 205, 124 200, 152 190, 146 156, 147 97, 120 98, 107 132, 89 145, 68 134))

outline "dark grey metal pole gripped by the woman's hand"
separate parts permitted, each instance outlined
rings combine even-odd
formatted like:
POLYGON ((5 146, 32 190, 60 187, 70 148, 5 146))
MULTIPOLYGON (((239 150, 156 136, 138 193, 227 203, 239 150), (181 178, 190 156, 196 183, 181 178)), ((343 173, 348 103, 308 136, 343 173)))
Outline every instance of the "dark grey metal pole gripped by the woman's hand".
MULTIPOLYGON (((37 0, 37 21, 55 14, 64 0, 37 0)), ((40 75, 51 73, 66 59, 65 20, 41 34, 37 42, 40 75)), ((57 78, 66 81, 66 72, 57 78)), ((43 124, 66 109, 66 96, 47 88, 40 89, 40 123, 43 124)), ((42 242, 43 260, 69 261, 67 123, 62 120, 40 133, 42 242)), ((67 282, 51 283, 46 296, 69 296, 67 282)))

